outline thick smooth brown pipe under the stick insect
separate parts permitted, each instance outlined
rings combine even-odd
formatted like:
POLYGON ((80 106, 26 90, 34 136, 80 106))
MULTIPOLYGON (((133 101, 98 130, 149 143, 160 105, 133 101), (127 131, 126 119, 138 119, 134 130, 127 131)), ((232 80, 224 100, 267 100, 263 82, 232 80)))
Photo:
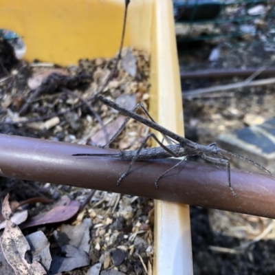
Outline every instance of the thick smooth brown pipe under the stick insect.
POLYGON ((0 175, 120 192, 275 218, 275 180, 268 175, 231 171, 232 186, 227 186, 224 168, 185 162, 154 186, 155 179, 177 159, 136 162, 129 176, 116 186, 129 162, 107 157, 74 157, 75 153, 110 153, 111 149, 38 140, 15 135, 0 135, 0 175))

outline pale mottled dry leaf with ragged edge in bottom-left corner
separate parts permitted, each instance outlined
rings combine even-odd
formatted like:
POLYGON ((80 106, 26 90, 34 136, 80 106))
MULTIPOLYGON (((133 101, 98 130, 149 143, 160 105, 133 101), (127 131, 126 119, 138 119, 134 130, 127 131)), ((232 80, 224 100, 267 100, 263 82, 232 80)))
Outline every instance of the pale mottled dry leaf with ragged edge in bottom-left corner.
POLYGON ((21 230, 17 225, 12 223, 10 217, 12 210, 8 202, 9 195, 7 195, 3 202, 2 214, 7 221, 7 225, 1 236, 1 248, 5 259, 14 269, 15 274, 18 275, 43 275, 47 274, 40 263, 34 261, 28 263, 25 260, 25 253, 30 250, 28 241, 23 236, 21 230))

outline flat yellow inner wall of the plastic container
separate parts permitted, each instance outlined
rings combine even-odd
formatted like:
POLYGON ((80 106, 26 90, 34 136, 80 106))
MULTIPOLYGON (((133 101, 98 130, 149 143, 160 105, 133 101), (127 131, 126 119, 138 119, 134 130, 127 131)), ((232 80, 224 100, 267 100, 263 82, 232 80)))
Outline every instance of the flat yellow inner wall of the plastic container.
MULTIPOLYGON (((111 57, 120 43, 124 1, 1 0, 0 28, 19 34, 28 61, 60 65, 111 57)), ((125 45, 151 48, 152 1, 132 1, 125 45)))

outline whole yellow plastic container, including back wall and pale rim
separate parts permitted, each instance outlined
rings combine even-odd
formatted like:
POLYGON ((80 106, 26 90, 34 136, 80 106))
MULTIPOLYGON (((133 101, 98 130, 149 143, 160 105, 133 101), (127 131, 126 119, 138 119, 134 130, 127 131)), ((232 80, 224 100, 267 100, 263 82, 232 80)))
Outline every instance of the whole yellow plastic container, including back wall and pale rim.
MULTIPOLYGON (((26 60, 69 65, 114 56, 123 13, 123 0, 0 0, 0 28, 22 36, 26 60)), ((183 135, 172 1, 131 0, 124 46, 151 54, 150 113, 183 135)), ((188 206, 156 201, 155 210, 153 274, 192 274, 188 206)))

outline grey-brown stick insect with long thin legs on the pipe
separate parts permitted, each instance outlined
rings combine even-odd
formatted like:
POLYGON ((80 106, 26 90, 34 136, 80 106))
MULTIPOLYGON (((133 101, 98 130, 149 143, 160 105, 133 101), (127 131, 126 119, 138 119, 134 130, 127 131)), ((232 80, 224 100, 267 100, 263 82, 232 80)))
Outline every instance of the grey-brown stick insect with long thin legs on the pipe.
MULTIPOLYGON (((265 172, 272 175, 272 173, 269 170, 265 169, 260 164, 257 164, 256 162, 253 162, 252 160, 250 160, 246 157, 243 157, 241 155, 238 155, 236 153, 225 151, 225 150, 217 147, 215 143, 212 143, 210 145, 197 144, 195 142, 192 142, 191 140, 186 139, 185 137, 181 137, 180 135, 177 135, 176 133, 173 133, 172 131, 169 131, 168 129, 160 126, 154 120, 151 121, 151 120, 147 120, 146 118, 143 118, 141 115, 138 115, 137 113, 135 113, 135 111, 137 110, 138 107, 142 107, 142 109, 144 109, 142 104, 137 104, 137 107, 135 107, 135 109, 133 111, 129 111, 129 110, 126 110, 126 109, 120 107, 118 104, 115 104, 115 102, 112 102, 111 100, 108 100, 107 98, 104 98, 103 96, 98 96, 98 100, 100 100, 104 104, 108 105, 109 107, 119 111, 123 115, 128 116, 128 118, 126 118, 124 124, 122 124, 122 126, 120 127, 118 132, 115 133, 115 135, 113 136, 111 141, 113 141, 115 139, 115 137, 117 137, 118 134, 122 131, 126 122, 128 122, 128 120, 130 118, 133 118, 133 119, 137 120, 138 122, 141 122, 141 123, 145 124, 146 126, 149 126, 153 129, 155 129, 156 131, 159 131, 160 133, 162 133, 162 135, 164 135, 164 137, 166 136, 166 140, 168 139, 168 141, 170 141, 170 142, 172 140, 179 142, 178 144, 172 144, 172 145, 165 146, 161 141, 159 141, 157 139, 155 134, 151 133, 145 138, 144 142, 142 142, 140 148, 138 148, 135 151, 120 151, 120 153, 114 153, 114 154, 74 154, 75 156, 115 157, 115 158, 122 159, 122 160, 131 160, 126 172, 122 174, 120 179, 118 179, 118 184, 120 184, 120 182, 122 181, 122 179, 124 179, 124 177, 129 175, 131 167, 133 166, 135 161, 142 161, 142 160, 148 160, 148 159, 162 159, 162 158, 167 158, 167 157, 184 157, 184 156, 192 157, 195 155, 201 156, 201 157, 203 157, 203 159, 206 159, 209 162, 214 162, 215 164, 225 164, 226 165, 227 170, 228 170, 228 186, 229 186, 229 188, 232 192, 232 195, 234 197, 236 197, 236 193, 234 192, 232 185, 231 185, 230 162, 228 160, 228 157, 226 157, 226 154, 232 155, 234 157, 239 157, 240 159, 243 159, 245 162, 250 162, 254 166, 257 166, 257 167, 265 170, 265 172), (160 147, 144 148, 149 137, 153 137, 156 140, 156 142, 159 144, 160 147), (168 138, 168 137, 170 137, 170 138, 168 138), (211 155, 211 156, 209 156, 209 155, 211 155)), ((146 111, 146 109, 144 109, 144 111, 148 115, 148 112, 146 111)), ((149 117, 150 117, 150 115, 149 115, 149 117)), ((159 179, 164 177, 164 175, 166 175, 168 172, 170 172, 170 170, 173 170, 174 168, 179 166, 179 164, 181 164, 182 162, 184 162, 184 159, 181 159, 177 164, 175 164, 173 167, 166 170, 162 175, 157 177, 157 179, 155 180, 156 188, 158 187, 157 182, 159 181, 159 179)), ((274 176, 274 175, 272 175, 272 176, 274 176)))

